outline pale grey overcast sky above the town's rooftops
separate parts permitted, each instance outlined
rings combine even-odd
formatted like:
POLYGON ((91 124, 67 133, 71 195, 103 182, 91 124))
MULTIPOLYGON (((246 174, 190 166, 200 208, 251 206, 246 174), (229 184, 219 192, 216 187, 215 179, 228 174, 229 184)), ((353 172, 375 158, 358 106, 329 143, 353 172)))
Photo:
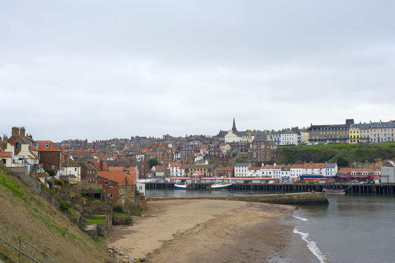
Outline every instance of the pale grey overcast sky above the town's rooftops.
POLYGON ((392 0, 0 1, 0 135, 395 119, 392 0))

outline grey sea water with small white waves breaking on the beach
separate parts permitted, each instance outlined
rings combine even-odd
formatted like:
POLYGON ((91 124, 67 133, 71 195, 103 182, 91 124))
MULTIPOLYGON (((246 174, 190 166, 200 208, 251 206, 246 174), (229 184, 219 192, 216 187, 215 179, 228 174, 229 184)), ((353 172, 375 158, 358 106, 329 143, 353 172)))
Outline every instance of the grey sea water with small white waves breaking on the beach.
POLYGON ((299 206, 292 214, 294 235, 317 261, 395 262, 394 196, 327 196, 329 205, 299 206))

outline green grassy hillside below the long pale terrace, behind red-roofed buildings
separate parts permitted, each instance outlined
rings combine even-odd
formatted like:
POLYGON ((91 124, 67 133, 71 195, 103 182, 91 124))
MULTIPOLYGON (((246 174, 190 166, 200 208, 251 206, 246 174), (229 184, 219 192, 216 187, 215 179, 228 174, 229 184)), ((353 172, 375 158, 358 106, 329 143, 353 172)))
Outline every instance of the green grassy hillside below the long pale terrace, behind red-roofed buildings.
POLYGON ((276 163, 336 162, 339 157, 361 163, 376 158, 391 159, 395 157, 395 143, 279 146, 276 163))

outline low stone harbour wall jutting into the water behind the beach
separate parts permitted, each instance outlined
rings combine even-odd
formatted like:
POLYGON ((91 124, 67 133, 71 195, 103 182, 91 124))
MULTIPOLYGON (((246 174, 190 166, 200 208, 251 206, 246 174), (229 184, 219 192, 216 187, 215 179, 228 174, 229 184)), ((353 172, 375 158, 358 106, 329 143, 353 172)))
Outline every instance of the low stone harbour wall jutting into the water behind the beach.
POLYGON ((209 196, 209 197, 148 197, 147 201, 161 201, 170 199, 214 199, 214 200, 231 200, 260 202, 283 205, 312 205, 328 204, 326 193, 289 193, 289 194, 263 194, 263 195, 229 195, 229 196, 209 196))

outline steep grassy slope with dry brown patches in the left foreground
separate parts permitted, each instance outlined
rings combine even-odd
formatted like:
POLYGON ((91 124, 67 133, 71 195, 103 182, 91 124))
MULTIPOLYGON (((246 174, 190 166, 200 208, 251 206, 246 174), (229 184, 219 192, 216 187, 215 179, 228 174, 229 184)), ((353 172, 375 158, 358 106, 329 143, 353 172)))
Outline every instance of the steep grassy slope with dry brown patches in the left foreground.
MULTIPOLYGON (((0 225, 59 262, 111 261, 104 240, 95 242, 66 216, 0 167, 0 225)), ((0 243, 0 250, 8 249, 0 243)))

